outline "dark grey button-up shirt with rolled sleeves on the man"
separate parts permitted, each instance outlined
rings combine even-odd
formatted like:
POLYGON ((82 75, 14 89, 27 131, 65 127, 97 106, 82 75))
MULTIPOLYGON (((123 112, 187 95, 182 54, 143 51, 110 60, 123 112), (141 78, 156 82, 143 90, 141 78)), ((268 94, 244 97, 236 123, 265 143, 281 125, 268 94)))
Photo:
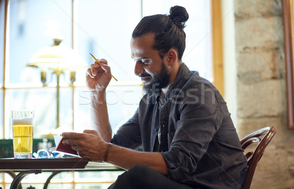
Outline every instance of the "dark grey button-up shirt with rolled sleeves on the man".
POLYGON ((213 84, 184 63, 165 99, 145 95, 112 142, 153 151, 159 129, 169 178, 192 188, 241 188, 247 159, 226 103, 213 84))

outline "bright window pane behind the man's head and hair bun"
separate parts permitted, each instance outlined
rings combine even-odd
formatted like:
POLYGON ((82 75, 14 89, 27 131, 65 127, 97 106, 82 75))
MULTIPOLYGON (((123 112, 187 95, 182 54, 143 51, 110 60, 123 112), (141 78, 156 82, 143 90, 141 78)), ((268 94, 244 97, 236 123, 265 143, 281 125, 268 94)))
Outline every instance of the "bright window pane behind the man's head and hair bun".
POLYGON ((211 11, 209 0, 143 0, 143 16, 169 14, 170 8, 186 8, 189 19, 184 29, 186 50, 182 61, 200 76, 212 80, 211 11), (156 4, 156 6, 154 6, 156 4))

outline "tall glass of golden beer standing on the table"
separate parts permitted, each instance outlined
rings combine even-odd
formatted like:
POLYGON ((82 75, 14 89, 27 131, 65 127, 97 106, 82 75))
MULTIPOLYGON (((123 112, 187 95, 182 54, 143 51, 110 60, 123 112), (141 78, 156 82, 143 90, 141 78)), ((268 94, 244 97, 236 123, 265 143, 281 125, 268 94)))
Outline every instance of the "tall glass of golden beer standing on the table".
POLYGON ((11 115, 14 158, 32 158, 35 111, 12 110, 11 115))

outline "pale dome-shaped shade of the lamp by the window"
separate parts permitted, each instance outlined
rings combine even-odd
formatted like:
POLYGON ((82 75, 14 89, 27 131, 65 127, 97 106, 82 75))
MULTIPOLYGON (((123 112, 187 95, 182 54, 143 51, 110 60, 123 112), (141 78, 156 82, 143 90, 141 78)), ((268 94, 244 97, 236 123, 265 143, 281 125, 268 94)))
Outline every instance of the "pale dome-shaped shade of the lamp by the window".
POLYGON ((88 66, 77 52, 60 42, 61 40, 54 39, 53 45, 38 50, 26 65, 54 71, 75 70, 88 66))

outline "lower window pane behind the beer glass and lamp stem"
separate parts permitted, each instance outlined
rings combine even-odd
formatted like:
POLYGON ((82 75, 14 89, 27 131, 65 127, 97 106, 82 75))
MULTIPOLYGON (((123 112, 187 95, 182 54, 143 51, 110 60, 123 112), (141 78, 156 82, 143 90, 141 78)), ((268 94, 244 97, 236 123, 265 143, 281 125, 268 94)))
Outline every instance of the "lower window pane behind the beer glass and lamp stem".
MULTIPOLYGON (((60 89, 60 126, 72 128, 71 89, 60 89)), ((7 89, 5 95, 5 138, 12 138, 12 109, 35 110, 34 138, 43 138, 56 127, 56 88, 7 89)), ((61 134, 61 133, 60 133, 61 134)))

